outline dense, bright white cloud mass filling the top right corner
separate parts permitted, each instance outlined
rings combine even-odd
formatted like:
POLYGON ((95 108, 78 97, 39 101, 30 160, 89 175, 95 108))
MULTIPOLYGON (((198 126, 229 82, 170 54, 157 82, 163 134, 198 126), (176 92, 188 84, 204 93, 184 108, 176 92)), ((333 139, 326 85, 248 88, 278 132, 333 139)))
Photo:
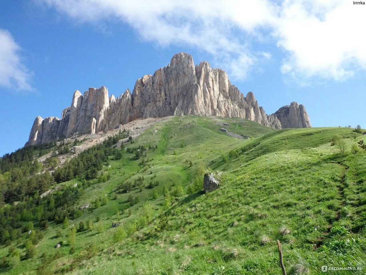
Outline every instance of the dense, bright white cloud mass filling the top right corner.
POLYGON ((287 51, 281 72, 344 80, 365 69, 366 38, 359 29, 365 11, 352 1, 285 1, 273 32, 287 51))

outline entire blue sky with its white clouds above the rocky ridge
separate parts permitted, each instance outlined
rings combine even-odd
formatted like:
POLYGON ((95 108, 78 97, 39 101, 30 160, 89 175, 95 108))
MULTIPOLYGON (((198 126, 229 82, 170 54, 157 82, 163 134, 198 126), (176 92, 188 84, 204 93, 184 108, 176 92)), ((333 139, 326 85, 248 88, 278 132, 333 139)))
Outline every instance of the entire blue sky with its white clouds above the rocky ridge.
POLYGON ((0 155, 75 90, 119 96, 177 52, 225 69, 267 114, 297 101, 314 127, 366 127, 366 41, 352 28, 366 10, 351 2, 1 1, 0 155))

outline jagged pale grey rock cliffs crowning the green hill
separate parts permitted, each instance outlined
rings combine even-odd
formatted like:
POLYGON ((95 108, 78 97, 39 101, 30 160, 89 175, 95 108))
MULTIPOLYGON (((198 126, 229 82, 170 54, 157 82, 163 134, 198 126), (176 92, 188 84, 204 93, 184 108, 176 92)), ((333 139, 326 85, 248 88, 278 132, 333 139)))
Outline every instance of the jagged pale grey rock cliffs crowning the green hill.
POLYGON ((138 118, 189 114, 247 118, 275 129, 311 127, 303 105, 292 102, 267 115, 254 94, 244 97, 224 70, 212 69, 208 62, 195 66, 192 56, 181 52, 168 66, 139 78, 132 94, 127 89, 109 98, 104 86, 89 88, 84 95, 75 91, 61 119, 36 118, 26 145, 107 131, 138 118))

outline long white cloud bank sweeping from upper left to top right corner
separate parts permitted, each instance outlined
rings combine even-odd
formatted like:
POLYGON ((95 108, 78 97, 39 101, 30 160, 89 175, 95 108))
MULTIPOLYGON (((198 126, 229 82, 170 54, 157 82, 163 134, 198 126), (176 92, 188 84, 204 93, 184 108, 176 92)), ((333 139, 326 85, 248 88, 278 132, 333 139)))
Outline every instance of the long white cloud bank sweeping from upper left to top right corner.
POLYGON ((35 0, 81 22, 120 20, 160 45, 206 51, 235 78, 283 49, 284 75, 344 80, 365 69, 364 8, 348 0, 35 0), (267 49, 266 51, 263 48, 267 49))

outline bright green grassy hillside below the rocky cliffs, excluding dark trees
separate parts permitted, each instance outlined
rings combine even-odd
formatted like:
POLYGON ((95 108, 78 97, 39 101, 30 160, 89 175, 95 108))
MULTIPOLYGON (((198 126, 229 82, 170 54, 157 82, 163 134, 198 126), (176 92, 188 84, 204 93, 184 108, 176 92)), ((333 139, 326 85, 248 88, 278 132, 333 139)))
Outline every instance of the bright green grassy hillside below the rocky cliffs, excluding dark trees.
POLYGON ((118 148, 120 159, 103 162, 98 175, 108 180, 81 175, 61 183, 56 193, 69 186, 78 191, 76 208, 90 207, 66 226, 50 221, 33 257, 25 256, 28 232, 1 246, 0 272, 281 274, 277 239, 288 274, 318 274, 324 264, 365 267, 366 154, 354 149, 364 137, 348 128, 273 131, 242 119, 163 121, 118 148), (223 122, 251 139, 219 132, 223 122), (336 136, 344 155, 331 146, 336 136), (204 194, 195 183, 208 171, 221 172, 221 184, 204 194), (92 226, 72 233, 81 222, 92 226), (14 247, 21 260, 5 263, 14 247))

